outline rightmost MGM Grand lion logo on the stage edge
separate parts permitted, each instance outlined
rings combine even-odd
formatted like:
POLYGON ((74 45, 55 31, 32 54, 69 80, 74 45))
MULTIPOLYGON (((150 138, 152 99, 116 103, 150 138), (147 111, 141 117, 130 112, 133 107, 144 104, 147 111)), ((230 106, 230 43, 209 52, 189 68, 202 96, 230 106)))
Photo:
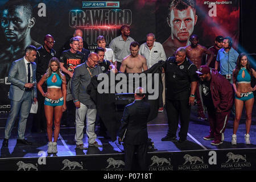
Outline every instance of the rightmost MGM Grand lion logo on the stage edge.
POLYGON ((226 154, 228 160, 225 163, 221 164, 221 168, 228 168, 230 170, 237 170, 242 168, 251 167, 251 163, 247 162, 246 155, 233 154, 232 152, 228 152, 226 154))

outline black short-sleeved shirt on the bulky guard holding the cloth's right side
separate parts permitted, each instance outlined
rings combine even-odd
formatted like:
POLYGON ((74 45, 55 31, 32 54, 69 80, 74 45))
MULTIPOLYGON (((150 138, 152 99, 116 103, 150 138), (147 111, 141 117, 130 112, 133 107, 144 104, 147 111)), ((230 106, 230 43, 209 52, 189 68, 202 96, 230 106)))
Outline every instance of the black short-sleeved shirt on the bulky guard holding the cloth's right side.
POLYGON ((166 73, 166 98, 186 100, 190 96, 191 82, 197 81, 197 68, 189 59, 177 65, 175 57, 169 57, 163 65, 166 73))

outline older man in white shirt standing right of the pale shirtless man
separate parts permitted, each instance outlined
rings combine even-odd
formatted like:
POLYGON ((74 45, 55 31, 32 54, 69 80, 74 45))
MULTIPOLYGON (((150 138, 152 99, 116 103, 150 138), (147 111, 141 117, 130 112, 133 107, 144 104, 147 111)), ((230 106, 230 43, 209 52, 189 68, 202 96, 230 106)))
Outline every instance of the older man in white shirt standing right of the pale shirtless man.
MULTIPOLYGON (((139 47, 139 54, 144 56, 147 60, 147 67, 150 68, 158 61, 166 60, 166 53, 164 52, 162 44, 155 42, 155 35, 150 33, 147 34, 146 42, 141 44, 139 47)), ((163 80, 163 105, 165 105, 165 78, 164 73, 162 73, 163 80)), ((160 106, 159 112, 163 112, 163 106, 160 106)))

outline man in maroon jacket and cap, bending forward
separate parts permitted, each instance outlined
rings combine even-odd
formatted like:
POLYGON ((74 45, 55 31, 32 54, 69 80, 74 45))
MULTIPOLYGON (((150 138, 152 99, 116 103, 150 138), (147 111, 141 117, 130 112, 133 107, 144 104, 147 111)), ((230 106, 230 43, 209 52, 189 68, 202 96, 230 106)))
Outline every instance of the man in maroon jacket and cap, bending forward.
POLYGON ((229 121, 229 114, 234 101, 232 85, 217 70, 201 65, 197 74, 200 78, 199 93, 207 107, 210 134, 204 140, 213 140, 217 146, 224 141, 224 131, 229 121))

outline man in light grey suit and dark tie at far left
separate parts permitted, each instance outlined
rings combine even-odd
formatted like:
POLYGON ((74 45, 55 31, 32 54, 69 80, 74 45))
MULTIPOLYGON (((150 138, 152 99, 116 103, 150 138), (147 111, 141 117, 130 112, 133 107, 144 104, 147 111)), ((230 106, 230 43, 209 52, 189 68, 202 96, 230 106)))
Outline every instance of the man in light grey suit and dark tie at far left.
POLYGON ((22 59, 13 61, 8 75, 11 82, 9 99, 11 100, 11 111, 5 126, 5 139, 3 146, 8 146, 11 130, 15 118, 19 115, 17 143, 32 144, 24 139, 26 123, 32 101, 36 102, 36 47, 27 46, 25 56, 22 59))

